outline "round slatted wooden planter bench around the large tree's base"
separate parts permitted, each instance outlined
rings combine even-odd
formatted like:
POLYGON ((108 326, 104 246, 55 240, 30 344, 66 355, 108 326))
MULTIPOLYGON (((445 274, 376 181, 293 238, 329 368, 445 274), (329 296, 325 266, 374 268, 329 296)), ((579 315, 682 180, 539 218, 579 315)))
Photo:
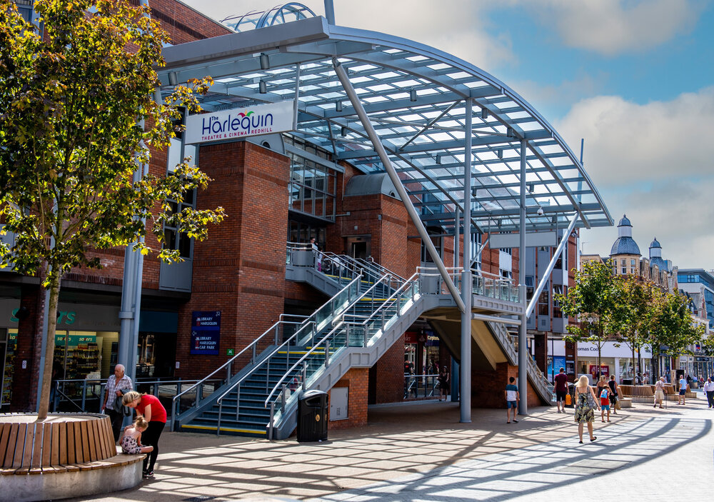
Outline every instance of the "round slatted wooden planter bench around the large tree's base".
POLYGON ((108 416, 32 413, 0 415, 3 497, 38 501, 108 493, 141 482, 144 454, 116 453, 108 416))

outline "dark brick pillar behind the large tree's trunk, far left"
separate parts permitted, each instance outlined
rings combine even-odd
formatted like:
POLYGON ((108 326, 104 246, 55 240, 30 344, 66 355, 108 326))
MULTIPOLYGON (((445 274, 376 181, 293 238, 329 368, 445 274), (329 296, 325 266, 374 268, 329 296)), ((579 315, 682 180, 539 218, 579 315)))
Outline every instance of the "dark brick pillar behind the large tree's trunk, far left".
POLYGON ((42 321, 45 290, 41 286, 24 284, 20 292, 20 312, 17 323, 17 346, 12 377, 10 411, 35 411, 42 351, 42 321), (25 367, 23 368, 23 363, 25 367))

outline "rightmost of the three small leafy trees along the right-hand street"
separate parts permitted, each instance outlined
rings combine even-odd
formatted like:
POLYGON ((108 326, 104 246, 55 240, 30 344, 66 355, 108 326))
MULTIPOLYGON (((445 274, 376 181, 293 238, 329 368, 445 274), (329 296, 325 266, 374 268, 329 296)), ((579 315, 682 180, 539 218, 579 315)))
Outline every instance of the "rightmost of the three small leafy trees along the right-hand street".
POLYGON ((655 291, 648 336, 653 359, 655 353, 670 357, 692 353, 689 346, 703 340, 704 326, 695 323, 689 298, 679 292, 655 291))

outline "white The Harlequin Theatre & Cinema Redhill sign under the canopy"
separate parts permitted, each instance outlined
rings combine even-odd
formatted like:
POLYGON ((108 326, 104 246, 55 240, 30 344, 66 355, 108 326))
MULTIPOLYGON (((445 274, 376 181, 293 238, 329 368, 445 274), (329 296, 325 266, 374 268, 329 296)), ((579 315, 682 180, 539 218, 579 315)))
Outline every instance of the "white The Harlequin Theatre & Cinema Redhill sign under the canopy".
POLYGON ((293 116, 292 100, 191 115, 183 136, 186 144, 196 144, 291 131, 293 116))

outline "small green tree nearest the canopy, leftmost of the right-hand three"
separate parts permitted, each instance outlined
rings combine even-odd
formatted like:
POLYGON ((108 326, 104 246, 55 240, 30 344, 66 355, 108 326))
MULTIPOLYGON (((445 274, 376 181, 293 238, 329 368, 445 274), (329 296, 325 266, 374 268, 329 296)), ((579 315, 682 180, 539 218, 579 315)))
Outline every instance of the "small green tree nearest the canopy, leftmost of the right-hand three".
POLYGON ((579 322, 568 324, 566 341, 588 341, 598 346, 598 372, 602 368, 602 348, 608 338, 615 303, 618 298, 618 278, 613 266, 601 261, 588 261, 583 270, 575 271, 575 286, 568 295, 554 295, 555 301, 567 316, 578 317, 579 322))

